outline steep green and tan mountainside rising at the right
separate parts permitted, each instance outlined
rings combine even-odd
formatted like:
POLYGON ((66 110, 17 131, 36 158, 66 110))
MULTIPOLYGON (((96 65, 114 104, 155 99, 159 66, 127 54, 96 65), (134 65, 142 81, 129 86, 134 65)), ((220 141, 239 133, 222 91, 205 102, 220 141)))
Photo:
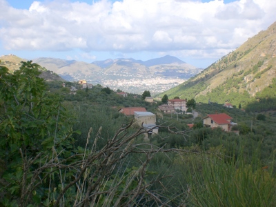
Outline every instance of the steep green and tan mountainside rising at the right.
POLYGON ((248 39, 242 46, 203 70, 200 74, 168 90, 169 98, 195 98, 217 103, 230 101, 247 105, 260 98, 275 98, 276 22, 248 39))

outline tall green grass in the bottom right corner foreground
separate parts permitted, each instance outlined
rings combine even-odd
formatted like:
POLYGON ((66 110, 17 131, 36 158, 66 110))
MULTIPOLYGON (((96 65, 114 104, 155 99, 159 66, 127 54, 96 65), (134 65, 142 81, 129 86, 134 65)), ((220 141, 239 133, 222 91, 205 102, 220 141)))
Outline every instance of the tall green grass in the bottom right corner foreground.
POLYGON ((249 164, 242 151, 237 159, 203 155, 190 170, 191 206, 276 206, 274 159, 264 167, 258 155, 249 164))

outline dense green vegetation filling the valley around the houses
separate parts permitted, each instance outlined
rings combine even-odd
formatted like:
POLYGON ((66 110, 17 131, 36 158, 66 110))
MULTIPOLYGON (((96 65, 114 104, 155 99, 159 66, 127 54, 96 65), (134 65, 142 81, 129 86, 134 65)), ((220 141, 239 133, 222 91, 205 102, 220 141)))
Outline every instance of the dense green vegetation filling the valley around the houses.
POLYGON ((77 83, 46 83, 38 68, 0 68, 1 206, 276 205, 276 112, 261 110, 264 94, 247 111, 191 99, 194 119, 99 85, 71 92, 77 83), (159 134, 145 139, 123 106, 154 112, 159 134), (240 135, 204 128, 215 112, 240 135))

